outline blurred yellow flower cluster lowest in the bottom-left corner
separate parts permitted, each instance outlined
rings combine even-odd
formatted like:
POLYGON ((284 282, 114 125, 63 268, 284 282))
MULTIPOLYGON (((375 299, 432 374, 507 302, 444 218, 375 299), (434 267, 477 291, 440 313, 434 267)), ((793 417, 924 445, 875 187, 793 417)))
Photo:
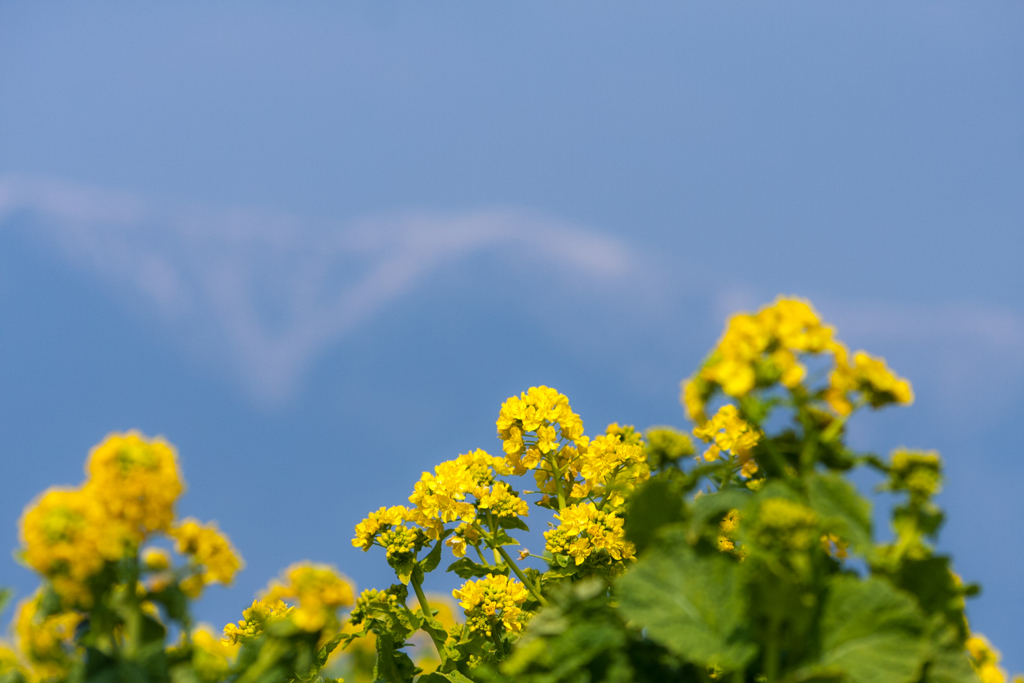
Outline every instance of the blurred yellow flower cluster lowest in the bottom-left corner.
POLYGON ((44 616, 39 611, 41 594, 22 601, 14 616, 15 641, 37 679, 57 679, 71 671, 75 629, 82 615, 63 611, 44 616))

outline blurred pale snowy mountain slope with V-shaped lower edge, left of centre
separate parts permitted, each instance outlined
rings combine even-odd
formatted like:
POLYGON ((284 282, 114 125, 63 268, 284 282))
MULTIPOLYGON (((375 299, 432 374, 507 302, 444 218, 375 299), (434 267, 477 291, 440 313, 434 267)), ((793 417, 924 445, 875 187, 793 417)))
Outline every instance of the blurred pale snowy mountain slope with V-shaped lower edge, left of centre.
POLYGON ((590 287, 636 284, 649 270, 621 241, 514 209, 339 225, 0 177, 0 223, 17 214, 68 258, 230 360, 268 401, 291 396, 310 362, 357 326, 476 254, 590 287))

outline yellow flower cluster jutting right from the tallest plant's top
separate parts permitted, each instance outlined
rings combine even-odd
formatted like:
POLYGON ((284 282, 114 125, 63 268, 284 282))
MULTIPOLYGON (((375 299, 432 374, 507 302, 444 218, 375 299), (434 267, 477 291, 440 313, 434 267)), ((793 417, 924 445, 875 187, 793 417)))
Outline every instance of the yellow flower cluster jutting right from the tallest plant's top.
POLYGON ((850 362, 849 353, 841 344, 835 344, 833 351, 836 353, 836 368, 829 377, 825 400, 840 415, 849 415, 853 411, 851 394, 855 391, 861 392, 873 408, 913 402, 910 383, 889 370, 884 358, 857 351, 853 354, 853 362, 850 362))

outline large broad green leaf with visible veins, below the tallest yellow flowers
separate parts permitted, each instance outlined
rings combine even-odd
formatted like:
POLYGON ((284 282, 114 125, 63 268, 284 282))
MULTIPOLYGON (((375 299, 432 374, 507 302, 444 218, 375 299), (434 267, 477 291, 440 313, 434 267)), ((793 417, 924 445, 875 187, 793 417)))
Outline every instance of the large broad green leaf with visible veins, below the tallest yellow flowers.
POLYGON ((686 660, 742 669, 757 653, 744 638, 744 598, 736 562, 700 556, 675 538, 648 551, 620 580, 620 609, 651 640, 686 660))

